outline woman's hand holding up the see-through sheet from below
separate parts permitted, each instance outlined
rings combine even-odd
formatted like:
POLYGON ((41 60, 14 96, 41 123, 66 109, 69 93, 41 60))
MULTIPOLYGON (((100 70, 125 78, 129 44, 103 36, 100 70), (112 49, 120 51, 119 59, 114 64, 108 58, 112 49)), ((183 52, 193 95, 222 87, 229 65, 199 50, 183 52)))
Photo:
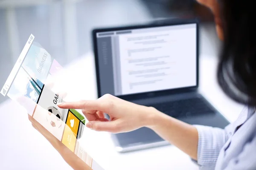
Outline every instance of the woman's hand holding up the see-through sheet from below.
POLYGON ((61 141, 59 141, 52 133, 49 133, 40 123, 38 123, 32 116, 29 115, 29 121, 32 122, 32 126, 38 130, 52 146, 61 154, 62 158, 70 165, 74 170, 92 170, 84 161, 82 161, 75 153, 68 149, 61 141))

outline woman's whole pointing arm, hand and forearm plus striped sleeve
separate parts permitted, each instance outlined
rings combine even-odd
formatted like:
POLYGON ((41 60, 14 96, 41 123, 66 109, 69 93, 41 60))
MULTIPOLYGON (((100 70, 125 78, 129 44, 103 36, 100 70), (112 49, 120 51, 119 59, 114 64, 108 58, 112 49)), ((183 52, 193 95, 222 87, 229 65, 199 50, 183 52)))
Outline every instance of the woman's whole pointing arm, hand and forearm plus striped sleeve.
POLYGON ((218 153, 227 141, 223 129, 193 126, 167 116, 155 108, 137 105, 112 95, 97 100, 67 102, 60 108, 82 109, 88 119, 87 127, 96 131, 121 133, 148 127, 163 139, 177 146, 201 166, 215 164, 218 153), (110 120, 105 119, 107 113, 110 120))

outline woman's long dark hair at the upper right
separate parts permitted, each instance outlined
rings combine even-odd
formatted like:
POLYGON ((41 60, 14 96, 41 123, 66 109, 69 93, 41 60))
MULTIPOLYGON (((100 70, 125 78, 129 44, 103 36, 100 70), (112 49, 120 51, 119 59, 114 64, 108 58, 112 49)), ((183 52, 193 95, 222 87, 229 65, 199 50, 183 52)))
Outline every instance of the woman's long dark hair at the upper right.
POLYGON ((256 106, 254 1, 220 1, 224 43, 218 63, 218 84, 236 102, 256 106))

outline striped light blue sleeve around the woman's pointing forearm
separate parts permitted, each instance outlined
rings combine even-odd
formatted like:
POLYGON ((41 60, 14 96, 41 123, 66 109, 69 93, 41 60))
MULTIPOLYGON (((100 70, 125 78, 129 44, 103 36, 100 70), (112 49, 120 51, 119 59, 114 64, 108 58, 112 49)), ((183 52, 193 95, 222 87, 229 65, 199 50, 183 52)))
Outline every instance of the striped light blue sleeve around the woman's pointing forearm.
POLYGON ((227 131, 230 125, 225 129, 194 125, 198 130, 198 160, 196 163, 200 169, 214 169, 221 148, 230 137, 227 131))

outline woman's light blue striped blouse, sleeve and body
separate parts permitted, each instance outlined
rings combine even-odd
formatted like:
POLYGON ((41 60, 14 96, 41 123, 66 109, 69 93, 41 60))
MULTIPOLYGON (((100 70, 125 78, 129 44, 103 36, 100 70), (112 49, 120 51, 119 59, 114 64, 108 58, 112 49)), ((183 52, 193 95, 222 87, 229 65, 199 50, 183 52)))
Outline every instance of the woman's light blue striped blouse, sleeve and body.
MULTIPOLYGON (((198 160, 195 162, 199 165, 200 170, 234 170, 234 167, 230 165, 232 162, 236 162, 236 167, 240 164, 245 170, 244 164, 246 166, 251 164, 240 157, 241 154, 245 157, 253 154, 255 155, 253 157, 256 157, 256 145, 250 146, 254 147, 254 150, 249 149, 247 153, 243 153, 244 147, 249 146, 253 140, 256 144, 256 114, 253 113, 254 109, 244 108, 236 122, 224 129, 194 125, 199 136, 198 160), (254 127, 255 129, 253 129, 254 127)), ((252 163, 248 170, 256 170, 256 163, 252 163)))

